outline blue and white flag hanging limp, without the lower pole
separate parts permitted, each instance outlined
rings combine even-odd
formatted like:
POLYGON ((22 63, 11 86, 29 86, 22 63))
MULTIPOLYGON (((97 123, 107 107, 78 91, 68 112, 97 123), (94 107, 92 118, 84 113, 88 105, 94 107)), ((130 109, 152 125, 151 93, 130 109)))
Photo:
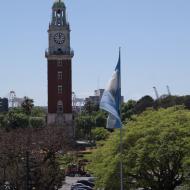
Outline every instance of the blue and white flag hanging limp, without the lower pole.
POLYGON ((100 109, 109 113, 107 119, 107 128, 121 128, 120 107, 121 107, 121 65, 120 65, 120 51, 119 60, 111 80, 105 89, 102 99, 100 101, 100 109))

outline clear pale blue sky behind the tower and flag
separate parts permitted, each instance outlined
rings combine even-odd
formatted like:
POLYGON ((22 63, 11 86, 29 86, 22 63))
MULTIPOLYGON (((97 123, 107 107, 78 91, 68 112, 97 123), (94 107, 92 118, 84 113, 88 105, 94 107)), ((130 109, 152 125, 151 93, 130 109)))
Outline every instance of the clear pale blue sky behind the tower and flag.
MULTIPOLYGON (((0 97, 11 90, 47 105, 47 29, 53 0, 0 1, 0 97)), ((190 94, 189 0, 65 0, 71 26, 73 91, 105 88, 121 47, 122 94, 190 94)))

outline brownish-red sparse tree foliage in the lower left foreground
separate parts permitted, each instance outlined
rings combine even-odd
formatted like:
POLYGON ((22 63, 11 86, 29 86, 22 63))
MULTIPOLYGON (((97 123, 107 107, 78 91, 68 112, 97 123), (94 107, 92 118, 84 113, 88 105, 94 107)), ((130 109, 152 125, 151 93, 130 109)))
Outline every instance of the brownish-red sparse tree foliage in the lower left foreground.
POLYGON ((0 130, 0 185, 6 181, 15 190, 60 188, 64 173, 57 154, 72 148, 65 134, 63 128, 0 130))

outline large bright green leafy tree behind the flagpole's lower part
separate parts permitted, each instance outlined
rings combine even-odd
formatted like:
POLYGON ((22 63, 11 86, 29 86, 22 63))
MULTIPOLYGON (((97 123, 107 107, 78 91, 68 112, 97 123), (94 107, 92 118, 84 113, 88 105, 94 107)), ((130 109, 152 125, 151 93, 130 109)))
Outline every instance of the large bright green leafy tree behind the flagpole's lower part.
MULTIPOLYGON (((190 112, 183 107, 148 110, 123 133, 125 189, 174 190, 190 173, 190 112)), ((97 187, 119 189, 119 132, 92 154, 97 187)))

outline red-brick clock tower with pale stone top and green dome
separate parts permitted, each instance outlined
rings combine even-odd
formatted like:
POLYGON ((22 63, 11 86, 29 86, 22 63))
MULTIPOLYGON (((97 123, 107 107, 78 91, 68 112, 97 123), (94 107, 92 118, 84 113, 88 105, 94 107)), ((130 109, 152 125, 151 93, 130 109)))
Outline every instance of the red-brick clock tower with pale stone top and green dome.
POLYGON ((72 123, 72 57, 70 26, 62 0, 55 0, 48 29, 49 47, 45 53, 48 69, 47 123, 72 123))

